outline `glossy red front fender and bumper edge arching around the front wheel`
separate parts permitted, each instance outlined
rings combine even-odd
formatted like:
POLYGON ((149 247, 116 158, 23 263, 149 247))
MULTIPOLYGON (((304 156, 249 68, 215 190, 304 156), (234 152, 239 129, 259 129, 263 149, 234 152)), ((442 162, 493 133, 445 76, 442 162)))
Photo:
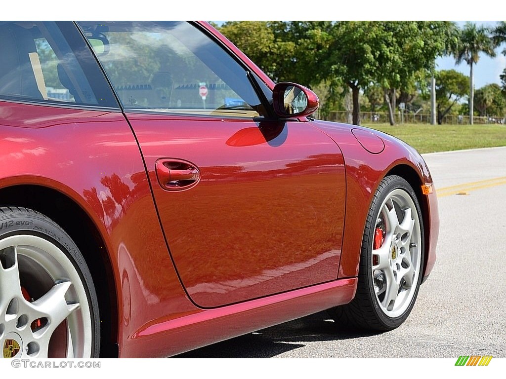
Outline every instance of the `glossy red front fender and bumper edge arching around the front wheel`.
MULTIPOLYGON (((432 183, 429 168, 418 152, 403 141, 376 130, 346 124, 313 121, 313 126, 327 134, 343 152, 346 168, 345 238, 339 278, 358 275, 362 237, 369 206, 379 182, 396 168, 405 167, 416 173, 419 184, 432 183), (381 153, 368 152, 351 132, 351 129, 373 132, 380 137, 385 148, 381 153), (406 167, 407 166, 407 167, 406 167)), ((415 192, 418 191, 415 188, 415 192)), ((420 206, 425 210, 425 265, 427 277, 436 259, 435 248, 439 233, 439 217, 435 191, 423 196, 420 206)))

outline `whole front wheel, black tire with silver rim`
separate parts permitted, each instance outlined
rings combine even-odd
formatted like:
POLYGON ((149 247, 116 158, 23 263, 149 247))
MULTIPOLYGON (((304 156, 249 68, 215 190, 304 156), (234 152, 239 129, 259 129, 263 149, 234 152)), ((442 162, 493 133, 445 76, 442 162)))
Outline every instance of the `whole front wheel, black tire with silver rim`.
POLYGON ((338 326, 352 326, 373 331, 395 329, 406 320, 413 309, 423 276, 421 272, 423 267, 424 225, 418 199, 413 188, 402 177, 387 176, 379 183, 367 214, 355 298, 349 304, 330 309, 329 313, 338 326), (392 227, 394 231, 399 231, 399 233, 392 232, 392 240, 389 239, 389 230, 383 230, 390 224, 395 225, 395 220, 390 222, 393 218, 388 218, 387 215, 391 211, 389 210, 391 204, 394 204, 396 211, 390 216, 397 216, 397 220, 402 217, 399 224, 405 220, 404 225, 409 225, 407 208, 410 208, 409 212, 414 222, 411 232, 407 234, 401 229, 402 225, 398 225, 398 229, 392 227), (374 243, 376 228, 381 231, 377 232, 378 241, 374 243), (382 231, 386 232, 384 241, 381 239, 382 231), (379 245, 380 242, 382 245, 379 245), (374 250, 375 254, 372 252, 373 246, 377 248, 374 250), (380 251, 388 254, 380 255, 378 254, 380 251), (382 260, 382 257, 388 257, 388 262, 382 260), (382 268, 373 270, 373 263, 374 267, 382 266, 382 268), (413 269, 413 275, 409 264, 413 269), (376 279, 373 279, 373 276, 376 279), (388 279, 389 277, 392 279, 388 279), (389 281, 392 287, 387 286, 389 281), (390 288, 392 288, 391 296, 387 291, 390 288), (394 297, 395 300, 390 300, 394 297))

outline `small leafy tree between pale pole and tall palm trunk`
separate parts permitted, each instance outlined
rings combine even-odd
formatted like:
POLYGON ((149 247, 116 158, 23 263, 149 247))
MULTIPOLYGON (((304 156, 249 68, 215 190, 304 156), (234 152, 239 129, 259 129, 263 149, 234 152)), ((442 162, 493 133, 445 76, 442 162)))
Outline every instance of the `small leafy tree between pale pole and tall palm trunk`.
POLYGON ((469 77, 455 70, 436 72, 438 124, 441 125, 452 107, 468 94, 469 77))

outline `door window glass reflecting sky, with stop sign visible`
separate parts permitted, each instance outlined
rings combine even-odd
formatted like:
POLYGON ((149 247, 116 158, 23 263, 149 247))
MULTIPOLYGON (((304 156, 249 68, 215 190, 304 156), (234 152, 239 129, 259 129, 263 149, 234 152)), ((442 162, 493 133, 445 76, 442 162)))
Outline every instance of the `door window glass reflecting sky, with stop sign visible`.
POLYGON ((266 113, 246 70, 189 23, 78 25, 126 110, 220 117, 266 113))

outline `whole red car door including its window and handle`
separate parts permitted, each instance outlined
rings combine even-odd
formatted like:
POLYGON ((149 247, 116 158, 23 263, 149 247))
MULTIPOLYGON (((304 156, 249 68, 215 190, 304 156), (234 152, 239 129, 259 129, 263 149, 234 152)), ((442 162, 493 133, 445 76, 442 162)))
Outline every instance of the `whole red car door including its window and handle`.
POLYGON ((180 279, 217 307, 337 277, 345 210, 339 147, 280 121, 260 85, 188 23, 79 23, 138 139, 180 279))

